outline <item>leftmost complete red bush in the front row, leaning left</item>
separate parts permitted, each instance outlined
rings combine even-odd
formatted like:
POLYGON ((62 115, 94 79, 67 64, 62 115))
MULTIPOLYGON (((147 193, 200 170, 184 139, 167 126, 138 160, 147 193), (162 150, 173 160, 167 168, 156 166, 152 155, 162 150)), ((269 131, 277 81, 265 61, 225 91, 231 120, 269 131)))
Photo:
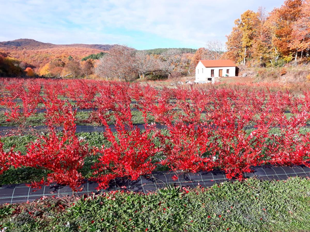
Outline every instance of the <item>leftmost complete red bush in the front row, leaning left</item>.
POLYGON ((55 130, 51 130, 26 148, 26 155, 15 153, 10 157, 15 168, 25 166, 50 171, 46 180, 34 182, 32 187, 41 188, 42 184, 56 182, 69 185, 73 191, 78 190, 83 179, 80 169, 89 152, 87 144, 83 145, 74 131, 64 130, 62 135, 57 135, 55 130))

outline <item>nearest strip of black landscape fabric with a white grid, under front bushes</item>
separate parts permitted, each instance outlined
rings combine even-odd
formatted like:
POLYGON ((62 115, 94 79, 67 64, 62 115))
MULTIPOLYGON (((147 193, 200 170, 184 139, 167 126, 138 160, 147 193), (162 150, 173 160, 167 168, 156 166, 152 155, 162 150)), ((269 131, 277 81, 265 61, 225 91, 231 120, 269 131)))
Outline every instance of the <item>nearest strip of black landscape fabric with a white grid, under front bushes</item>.
MULTIPOLYGON (((245 178, 255 177, 260 180, 285 180, 290 177, 310 177, 310 168, 299 166, 272 166, 264 165, 253 167, 253 173, 244 174, 245 178)), ((232 181, 226 178, 222 171, 198 172, 198 173, 176 173, 176 172, 157 172, 149 175, 139 177, 137 180, 130 180, 128 178, 117 178, 110 182, 110 187, 105 190, 97 191, 98 186, 96 182, 86 182, 82 185, 82 191, 73 193, 69 186, 61 186, 52 184, 43 186, 38 191, 33 191, 25 184, 11 184, 2 185, 0 187, 0 204, 4 203, 21 203, 27 201, 34 201, 43 196, 57 196, 63 197, 68 195, 82 195, 82 194, 100 194, 101 192, 109 192, 116 190, 134 191, 148 193, 164 188, 168 185, 191 187, 195 188, 198 185, 201 187, 210 187, 214 184, 219 184, 224 181, 232 181), (172 180, 172 177, 178 176, 178 180, 172 180)))

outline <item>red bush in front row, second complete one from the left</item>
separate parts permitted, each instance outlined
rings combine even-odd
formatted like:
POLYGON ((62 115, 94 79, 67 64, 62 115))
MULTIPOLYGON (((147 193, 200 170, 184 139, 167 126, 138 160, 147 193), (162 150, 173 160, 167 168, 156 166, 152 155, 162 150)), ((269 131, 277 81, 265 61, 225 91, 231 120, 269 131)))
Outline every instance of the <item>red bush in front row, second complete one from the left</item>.
MULTIPOLYGON (((96 149, 100 156, 92 169, 95 180, 99 181, 98 189, 108 187, 113 178, 128 177, 137 180, 140 175, 149 174, 155 169, 152 158, 163 150, 152 141, 159 134, 158 130, 150 135, 150 128, 146 127, 145 131, 138 127, 125 130, 122 125, 117 127, 114 135, 105 120, 103 124, 106 126, 105 136, 111 146, 96 149)), ((117 125, 121 124, 122 122, 117 122, 117 125)))

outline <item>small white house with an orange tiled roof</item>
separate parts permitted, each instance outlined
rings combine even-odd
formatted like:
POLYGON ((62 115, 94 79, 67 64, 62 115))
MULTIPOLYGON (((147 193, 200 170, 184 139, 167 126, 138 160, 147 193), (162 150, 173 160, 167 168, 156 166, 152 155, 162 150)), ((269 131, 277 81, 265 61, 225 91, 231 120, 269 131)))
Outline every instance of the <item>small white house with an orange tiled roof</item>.
POLYGON ((236 76, 236 64, 231 60, 200 60, 196 66, 197 83, 215 83, 219 77, 236 76))

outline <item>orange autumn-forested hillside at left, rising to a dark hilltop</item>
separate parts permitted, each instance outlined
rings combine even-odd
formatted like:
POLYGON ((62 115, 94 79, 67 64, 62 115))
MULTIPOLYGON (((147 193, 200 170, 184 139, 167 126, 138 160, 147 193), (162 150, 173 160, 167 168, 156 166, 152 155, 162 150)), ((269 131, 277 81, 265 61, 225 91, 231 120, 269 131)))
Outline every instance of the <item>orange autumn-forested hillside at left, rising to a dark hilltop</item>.
POLYGON ((33 39, 0 42, 0 75, 24 75, 29 67, 38 75, 56 75, 70 60, 108 51, 114 45, 56 45, 33 39))

